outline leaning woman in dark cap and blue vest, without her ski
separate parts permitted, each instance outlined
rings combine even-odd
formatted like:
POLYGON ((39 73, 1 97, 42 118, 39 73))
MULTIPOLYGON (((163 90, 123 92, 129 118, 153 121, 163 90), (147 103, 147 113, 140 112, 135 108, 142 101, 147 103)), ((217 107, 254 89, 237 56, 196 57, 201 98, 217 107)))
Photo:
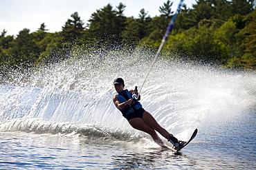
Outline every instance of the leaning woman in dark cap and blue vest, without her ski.
POLYGON ((122 78, 116 78, 113 81, 113 85, 117 92, 117 94, 113 96, 113 103, 122 112, 122 116, 128 120, 131 127, 140 131, 145 131, 152 136, 153 140, 161 147, 166 146, 164 145, 163 140, 156 134, 156 131, 171 142, 172 145, 174 145, 174 149, 179 149, 179 147, 184 145, 183 141, 179 141, 172 134, 169 134, 168 131, 163 129, 163 127, 156 122, 154 117, 149 114, 148 111, 143 109, 142 105, 138 102, 138 100, 140 100, 138 90, 130 89, 128 91, 127 89, 124 89, 125 82, 122 78), (134 98, 133 94, 136 94, 134 98))

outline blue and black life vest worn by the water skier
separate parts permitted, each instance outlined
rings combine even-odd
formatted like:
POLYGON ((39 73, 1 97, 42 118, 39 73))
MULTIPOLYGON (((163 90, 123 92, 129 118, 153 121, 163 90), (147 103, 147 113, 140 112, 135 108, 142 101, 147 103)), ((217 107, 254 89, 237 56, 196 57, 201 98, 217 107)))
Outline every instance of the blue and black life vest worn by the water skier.
MULTIPOLYGON (((127 89, 124 89, 122 93, 116 94, 118 97, 118 100, 120 103, 124 103, 125 101, 132 98, 131 92, 129 92, 127 89)), ((140 109, 143 107, 138 100, 134 100, 134 102, 131 105, 127 105, 124 109, 119 109, 122 112, 122 116, 127 116, 128 114, 134 113, 135 110, 140 109)))

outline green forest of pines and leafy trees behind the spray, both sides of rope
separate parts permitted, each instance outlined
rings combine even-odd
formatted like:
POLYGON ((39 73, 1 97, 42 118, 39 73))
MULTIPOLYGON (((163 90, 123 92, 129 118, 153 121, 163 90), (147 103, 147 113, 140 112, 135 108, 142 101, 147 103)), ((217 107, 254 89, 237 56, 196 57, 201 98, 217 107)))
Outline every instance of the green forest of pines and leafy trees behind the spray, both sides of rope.
MULTIPOLYGON (((35 32, 24 28, 15 36, 6 36, 8 30, 3 30, 0 77, 71 59, 77 50, 84 54, 138 48, 155 52, 174 16, 176 7, 172 3, 163 3, 155 17, 142 8, 138 18, 125 16, 124 3, 116 7, 108 3, 95 10, 86 25, 74 12, 62 31, 55 33, 47 30, 47 23, 39 25, 35 32)), ((196 0, 192 8, 183 3, 162 55, 167 59, 176 57, 185 62, 255 72, 255 0, 196 0)))

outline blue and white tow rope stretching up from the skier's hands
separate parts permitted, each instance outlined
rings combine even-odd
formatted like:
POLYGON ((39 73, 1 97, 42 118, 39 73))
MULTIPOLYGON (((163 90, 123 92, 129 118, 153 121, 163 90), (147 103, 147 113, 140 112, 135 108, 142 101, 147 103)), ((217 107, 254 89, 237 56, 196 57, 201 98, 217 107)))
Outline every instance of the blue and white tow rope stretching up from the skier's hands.
MULTIPOLYGON (((149 67, 149 71, 147 72, 147 74, 146 74, 146 76, 145 76, 145 79, 144 79, 144 81, 143 81, 143 85, 144 85, 144 83, 145 83, 145 81, 146 81, 146 79, 147 79, 147 76, 149 76, 149 72, 152 70, 152 67, 153 67, 154 63, 156 63, 156 60, 158 59, 158 56, 159 56, 159 54, 160 54, 160 52, 161 52, 161 50, 162 50, 162 48, 163 48, 163 45, 164 45, 165 42, 167 41, 167 38, 168 38, 170 32, 172 31, 172 28, 173 28, 173 26, 174 26, 174 21, 176 20, 176 17, 177 17, 177 15, 179 14, 179 12, 180 12, 180 10, 181 10, 181 5, 182 5, 183 1, 184 1, 184 0, 181 0, 181 1, 180 1, 179 6, 178 6, 178 8, 177 8, 177 10, 176 10, 176 12, 175 12, 175 14, 174 14, 174 16, 172 17, 170 23, 168 24, 167 30, 166 30, 166 32, 165 32, 165 35, 163 36, 163 39, 162 39, 162 41, 161 41, 161 45, 159 46, 158 51, 156 52, 154 61, 152 62, 152 65, 149 67)), ((143 89, 143 85, 141 85, 141 87, 140 87, 140 92, 141 92, 141 89, 143 89)), ((140 93, 139 93, 139 94, 140 94, 140 93)))

